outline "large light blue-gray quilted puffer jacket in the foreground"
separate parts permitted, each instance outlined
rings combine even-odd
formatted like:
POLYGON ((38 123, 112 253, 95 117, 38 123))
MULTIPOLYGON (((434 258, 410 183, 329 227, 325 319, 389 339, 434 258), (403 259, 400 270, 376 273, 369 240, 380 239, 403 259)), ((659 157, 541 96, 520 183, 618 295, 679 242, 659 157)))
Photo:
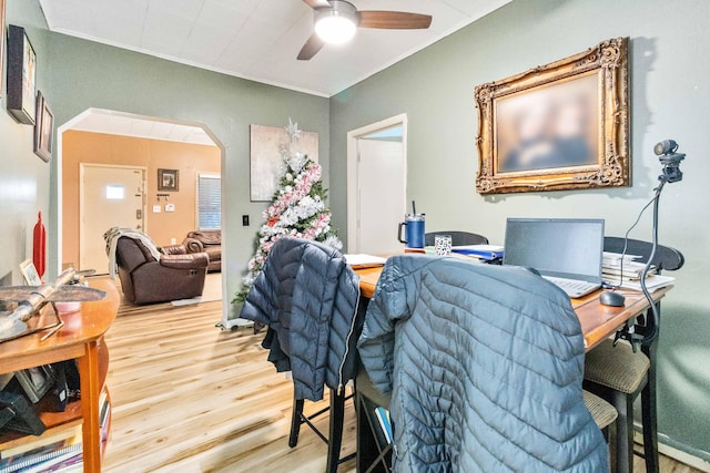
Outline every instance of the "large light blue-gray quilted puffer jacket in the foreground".
POLYGON ((392 392, 394 471, 608 471, 569 298, 521 268, 389 258, 359 354, 392 392))

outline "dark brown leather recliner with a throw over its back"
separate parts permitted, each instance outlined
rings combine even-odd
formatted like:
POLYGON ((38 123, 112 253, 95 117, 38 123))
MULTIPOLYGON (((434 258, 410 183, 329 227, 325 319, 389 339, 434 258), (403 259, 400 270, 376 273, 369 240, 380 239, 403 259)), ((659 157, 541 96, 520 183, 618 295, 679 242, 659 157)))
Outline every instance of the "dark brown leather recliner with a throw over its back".
POLYGON ((210 258, 206 253, 151 255, 143 243, 120 237, 115 259, 123 295, 133 304, 166 302, 202 296, 210 258))

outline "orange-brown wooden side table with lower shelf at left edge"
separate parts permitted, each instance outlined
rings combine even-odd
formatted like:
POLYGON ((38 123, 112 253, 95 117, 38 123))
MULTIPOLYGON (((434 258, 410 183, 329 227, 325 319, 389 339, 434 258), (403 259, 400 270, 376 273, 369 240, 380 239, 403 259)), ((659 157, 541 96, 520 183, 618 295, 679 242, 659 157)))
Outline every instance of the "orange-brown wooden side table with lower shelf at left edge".
POLYGON ((105 291, 105 299, 82 302, 81 310, 62 315, 64 326, 47 340, 41 341, 43 332, 38 332, 0 343, 0 373, 77 359, 81 401, 70 403, 61 413, 40 413, 40 419, 50 430, 70 424, 81 413, 84 472, 100 472, 99 395, 109 366, 103 335, 115 319, 120 297, 109 280, 97 280, 91 287, 105 291))

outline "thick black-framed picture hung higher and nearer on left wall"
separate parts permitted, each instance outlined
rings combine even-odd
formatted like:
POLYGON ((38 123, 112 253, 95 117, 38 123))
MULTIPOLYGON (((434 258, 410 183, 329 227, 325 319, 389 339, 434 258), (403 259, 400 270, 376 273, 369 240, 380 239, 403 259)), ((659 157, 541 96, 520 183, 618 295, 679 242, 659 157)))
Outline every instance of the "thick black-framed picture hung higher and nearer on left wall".
POLYGON ((34 124, 37 113, 37 55, 24 28, 8 27, 8 111, 26 125, 34 124))

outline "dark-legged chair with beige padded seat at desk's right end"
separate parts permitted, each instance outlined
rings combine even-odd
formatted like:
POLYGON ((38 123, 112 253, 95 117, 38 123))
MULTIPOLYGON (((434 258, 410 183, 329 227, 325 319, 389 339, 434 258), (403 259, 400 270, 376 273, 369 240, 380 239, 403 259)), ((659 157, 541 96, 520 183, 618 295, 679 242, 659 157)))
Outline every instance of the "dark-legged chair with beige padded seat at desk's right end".
MULTIPOLYGON (((625 238, 605 237, 605 251, 622 253, 625 238)), ((646 263, 651 255, 652 245, 648 241, 629 239, 627 255, 640 256, 646 263)), ((683 266, 683 255, 674 248, 658 246, 652 265, 658 273, 676 270, 683 266)), ((660 302, 657 304, 660 307, 660 302)), ((659 312, 660 313, 660 312, 659 312)), ((650 310, 637 320, 637 333, 652 333, 656 330, 650 310)), ((598 347, 589 351, 585 359, 585 389, 611 402, 619 417, 617 419, 616 435, 617 464, 611 464, 612 471, 631 472, 633 470, 633 454, 637 453, 646 461, 646 471, 658 473, 658 428, 656 413, 656 340, 641 345, 640 352, 633 352, 631 346, 619 341, 613 346, 612 340, 604 340, 598 347), (641 413, 643 423, 643 452, 633 451, 633 401, 641 394, 641 413)), ((613 445, 611 446, 613 451, 613 445)))

